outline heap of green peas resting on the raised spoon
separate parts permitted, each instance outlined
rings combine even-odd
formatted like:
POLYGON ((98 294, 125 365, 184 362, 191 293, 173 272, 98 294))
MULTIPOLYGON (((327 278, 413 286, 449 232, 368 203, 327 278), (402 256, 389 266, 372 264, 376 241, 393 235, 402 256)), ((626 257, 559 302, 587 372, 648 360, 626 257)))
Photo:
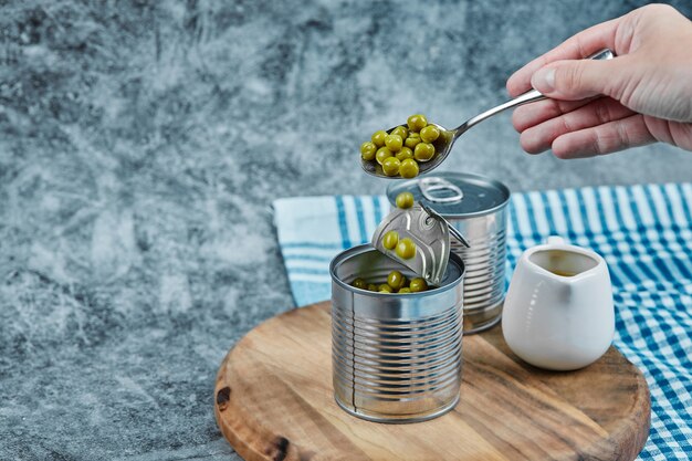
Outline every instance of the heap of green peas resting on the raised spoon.
POLYGON ((440 128, 428 124, 422 114, 408 117, 407 126, 400 125, 387 133, 375 132, 360 145, 364 160, 377 161, 387 176, 415 178, 419 172, 419 164, 430 161, 434 157, 434 143, 440 137, 440 128))

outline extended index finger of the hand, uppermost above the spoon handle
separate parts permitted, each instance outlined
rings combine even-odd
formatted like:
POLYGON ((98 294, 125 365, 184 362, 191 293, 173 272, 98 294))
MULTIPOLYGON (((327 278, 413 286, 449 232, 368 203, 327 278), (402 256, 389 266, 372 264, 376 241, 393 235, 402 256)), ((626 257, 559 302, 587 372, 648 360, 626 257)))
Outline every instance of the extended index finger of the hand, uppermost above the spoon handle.
POLYGON ((580 60, 604 48, 615 50, 615 35, 621 20, 622 17, 593 25, 536 57, 507 80, 507 92, 516 97, 531 90, 531 76, 534 72, 553 61, 580 60))

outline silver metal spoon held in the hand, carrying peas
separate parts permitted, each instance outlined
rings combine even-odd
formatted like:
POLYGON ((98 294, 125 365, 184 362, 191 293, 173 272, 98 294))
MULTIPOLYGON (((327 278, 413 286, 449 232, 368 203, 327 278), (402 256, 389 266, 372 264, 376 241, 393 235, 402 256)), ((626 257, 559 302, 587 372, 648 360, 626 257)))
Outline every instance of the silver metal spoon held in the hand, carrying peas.
MULTIPOLYGON (((600 50, 599 52, 588 56, 589 60, 611 60, 612 57, 615 57, 615 53, 608 49, 600 50)), ((490 118, 493 115, 500 114, 501 112, 506 111, 508 108, 521 106, 522 104, 526 104, 526 103, 533 103, 535 101, 542 101, 542 99, 547 99, 547 96, 544 96, 542 93, 539 93, 536 90, 530 90, 526 93, 515 97, 514 99, 510 99, 504 104, 501 104, 496 107, 485 111, 482 114, 476 115, 475 117, 469 118, 466 122, 462 123, 454 129, 447 129, 441 125, 431 124, 431 125, 437 126, 440 129, 440 137, 434 143, 432 143, 432 145, 434 146, 434 151, 436 151, 434 157, 432 157, 430 161, 418 164, 419 175, 423 175, 430 171, 431 169, 437 168, 442 161, 444 161, 444 159, 449 156, 449 153, 452 150, 452 146, 454 145, 454 142, 461 135, 466 133, 466 130, 469 130, 469 128, 471 128, 472 126, 478 125, 479 123, 483 122, 485 118, 490 118)), ((391 133, 391 130, 395 128, 396 127, 389 128, 387 133, 391 133)), ((377 176, 379 178, 387 178, 387 179, 401 179, 400 176, 386 176, 382 172, 382 167, 375 160, 364 160, 361 158, 360 165, 363 166, 363 169, 366 172, 373 176, 377 176)))

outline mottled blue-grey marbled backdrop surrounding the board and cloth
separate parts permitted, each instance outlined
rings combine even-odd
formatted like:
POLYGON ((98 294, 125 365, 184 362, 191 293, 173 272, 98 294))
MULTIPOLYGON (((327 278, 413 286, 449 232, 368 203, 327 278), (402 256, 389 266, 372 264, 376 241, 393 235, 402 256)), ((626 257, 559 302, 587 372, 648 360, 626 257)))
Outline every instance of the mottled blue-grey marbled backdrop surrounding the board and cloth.
MULTIPOLYGON (((238 459, 217 367, 293 306, 272 199, 382 192, 356 166, 370 132, 454 125, 640 3, 0 2, 0 459, 238 459)), ((692 178, 667 146, 560 161, 517 139, 489 121, 447 168, 514 190, 692 178)))

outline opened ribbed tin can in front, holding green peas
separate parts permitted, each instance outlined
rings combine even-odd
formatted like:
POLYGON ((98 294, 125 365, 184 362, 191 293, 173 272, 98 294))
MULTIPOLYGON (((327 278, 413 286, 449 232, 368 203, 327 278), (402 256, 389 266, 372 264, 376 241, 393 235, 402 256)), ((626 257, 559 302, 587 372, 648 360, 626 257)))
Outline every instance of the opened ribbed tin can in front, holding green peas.
POLYGON ((442 283, 419 293, 350 285, 356 277, 386 281, 394 270, 416 276, 369 244, 332 261, 334 397, 370 421, 424 421, 459 401, 464 265, 451 254, 442 283))

